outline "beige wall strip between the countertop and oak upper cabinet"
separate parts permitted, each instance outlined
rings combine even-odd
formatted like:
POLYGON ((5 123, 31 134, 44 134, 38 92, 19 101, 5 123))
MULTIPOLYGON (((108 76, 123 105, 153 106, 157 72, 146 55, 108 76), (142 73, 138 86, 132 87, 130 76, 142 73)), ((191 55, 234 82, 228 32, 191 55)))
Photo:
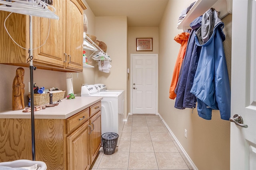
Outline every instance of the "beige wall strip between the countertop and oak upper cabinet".
MULTIPOLYGON (((12 82, 16 75, 16 69, 19 66, 10 66, 0 64, 0 111, 12 109, 12 82)), ((25 69, 24 84, 24 104, 28 105, 28 82, 30 82, 30 69, 25 69)), ((50 70, 36 69, 33 71, 34 82, 37 86, 44 86, 46 89, 58 87, 60 90, 66 90, 66 73, 50 70)), ((65 94, 66 95, 66 94, 65 94)))

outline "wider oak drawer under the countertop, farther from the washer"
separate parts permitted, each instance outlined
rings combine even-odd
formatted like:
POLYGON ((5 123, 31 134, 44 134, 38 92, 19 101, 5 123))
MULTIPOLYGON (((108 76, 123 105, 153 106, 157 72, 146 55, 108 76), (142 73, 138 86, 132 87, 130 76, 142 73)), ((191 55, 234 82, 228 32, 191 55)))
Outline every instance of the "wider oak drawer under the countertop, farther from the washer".
POLYGON ((82 125, 89 118, 89 107, 66 119, 67 133, 82 125))

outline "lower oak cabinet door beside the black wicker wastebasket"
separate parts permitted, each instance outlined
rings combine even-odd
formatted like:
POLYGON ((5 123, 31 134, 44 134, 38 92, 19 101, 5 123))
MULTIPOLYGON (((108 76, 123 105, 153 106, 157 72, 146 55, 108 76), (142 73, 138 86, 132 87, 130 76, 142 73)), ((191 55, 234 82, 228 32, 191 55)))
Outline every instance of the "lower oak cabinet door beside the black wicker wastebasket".
POLYGON ((90 159, 92 163, 101 147, 101 111, 90 119, 90 124, 92 128, 90 134, 90 159))

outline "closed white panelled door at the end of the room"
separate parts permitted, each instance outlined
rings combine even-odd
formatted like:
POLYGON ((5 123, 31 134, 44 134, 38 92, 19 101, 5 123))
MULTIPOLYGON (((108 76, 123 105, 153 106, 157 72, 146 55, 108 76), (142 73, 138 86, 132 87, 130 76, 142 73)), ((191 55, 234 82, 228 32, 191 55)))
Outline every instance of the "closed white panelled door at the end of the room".
POLYGON ((157 54, 131 54, 132 113, 156 114, 157 54))

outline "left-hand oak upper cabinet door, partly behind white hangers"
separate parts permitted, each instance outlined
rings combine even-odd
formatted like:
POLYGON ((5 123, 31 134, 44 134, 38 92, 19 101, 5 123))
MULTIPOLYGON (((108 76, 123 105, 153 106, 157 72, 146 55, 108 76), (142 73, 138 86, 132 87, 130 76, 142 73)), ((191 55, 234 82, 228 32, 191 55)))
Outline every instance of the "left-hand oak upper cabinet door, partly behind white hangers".
POLYGON ((34 61, 44 66, 64 68, 66 51, 66 4, 62 0, 53 3, 59 20, 34 17, 34 61), (50 33, 49 33, 50 27, 50 33), (49 37, 47 39, 49 33, 49 37), (46 40, 47 39, 47 40, 46 40), (46 43, 42 45, 46 40, 46 43), (40 47, 42 45, 42 47, 40 47))

